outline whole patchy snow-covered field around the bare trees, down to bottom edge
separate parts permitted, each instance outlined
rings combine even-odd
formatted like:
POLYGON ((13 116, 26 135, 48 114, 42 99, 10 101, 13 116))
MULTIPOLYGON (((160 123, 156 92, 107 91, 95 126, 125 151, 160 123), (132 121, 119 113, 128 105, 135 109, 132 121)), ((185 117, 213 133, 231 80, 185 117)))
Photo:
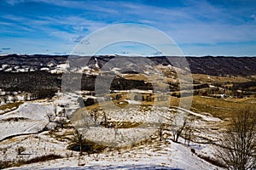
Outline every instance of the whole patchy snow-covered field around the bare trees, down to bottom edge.
MULTIPOLYGON (((51 102, 24 103, 15 111, 0 116, 0 161, 15 162, 54 154, 63 158, 11 169, 221 169, 196 156, 212 156, 214 145, 200 143, 204 143, 205 139, 214 141, 218 137, 216 125, 221 120, 210 114, 179 108, 137 107, 141 103, 133 100, 128 100, 130 107, 119 108, 118 111, 116 108, 106 111, 105 108, 104 111, 109 122, 137 122, 139 126, 106 128, 95 126, 96 123, 90 127, 84 126, 83 135, 86 139, 109 147, 98 154, 87 155, 84 152, 84 156, 79 156, 79 152, 67 150, 74 131, 70 123, 63 129, 42 132, 49 123, 48 115, 55 114, 55 110, 61 111, 61 107, 55 108, 54 105, 68 103, 71 108, 68 114, 71 116, 79 108, 77 98, 75 94, 65 94, 55 97, 51 102), (135 111, 134 108, 139 109, 135 111), (191 141, 189 146, 182 144, 183 138, 179 139, 180 144, 172 142, 172 129, 164 130, 163 140, 159 141, 160 123, 171 123, 170 119, 175 117, 177 109, 178 113, 194 117, 194 121, 189 123, 199 129, 194 132, 195 141, 191 141), (15 137, 5 139, 12 136, 15 137), (16 150, 20 146, 26 149, 21 155, 16 150), (196 154, 191 149, 195 149, 196 154)), ((85 112, 85 117, 89 116, 86 111, 79 111, 76 114, 85 112)), ((102 113, 100 111, 98 120, 103 119, 102 113)), ((72 123, 76 127, 76 122, 72 123)))

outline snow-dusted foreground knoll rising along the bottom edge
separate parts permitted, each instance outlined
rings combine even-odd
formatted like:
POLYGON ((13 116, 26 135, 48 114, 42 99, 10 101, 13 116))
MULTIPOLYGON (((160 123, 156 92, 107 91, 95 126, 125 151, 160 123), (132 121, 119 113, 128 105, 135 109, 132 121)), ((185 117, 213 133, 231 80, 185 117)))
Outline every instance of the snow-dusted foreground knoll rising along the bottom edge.
POLYGON ((11 169, 221 169, 195 156, 189 147, 172 142, 155 141, 130 150, 114 150, 78 159, 73 156, 11 169))

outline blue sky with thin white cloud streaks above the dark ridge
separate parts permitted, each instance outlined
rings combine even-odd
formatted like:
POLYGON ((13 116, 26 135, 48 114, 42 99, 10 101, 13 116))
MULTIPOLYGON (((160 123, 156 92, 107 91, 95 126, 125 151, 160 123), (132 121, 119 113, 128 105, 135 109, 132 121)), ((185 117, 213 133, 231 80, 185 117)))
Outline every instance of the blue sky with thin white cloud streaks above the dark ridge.
POLYGON ((256 56, 255 0, 1 0, 0 54, 70 54, 83 37, 119 23, 153 26, 184 55, 256 56))

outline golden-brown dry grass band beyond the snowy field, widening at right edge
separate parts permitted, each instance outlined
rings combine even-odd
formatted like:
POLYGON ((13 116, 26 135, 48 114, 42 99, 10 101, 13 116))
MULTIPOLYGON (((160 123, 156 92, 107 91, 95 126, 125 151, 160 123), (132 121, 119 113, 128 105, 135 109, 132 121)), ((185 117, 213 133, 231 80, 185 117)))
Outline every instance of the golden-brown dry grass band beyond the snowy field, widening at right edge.
MULTIPOLYGON (((179 106, 180 102, 189 102, 189 97, 185 98, 176 98, 170 97, 169 101, 170 106, 179 106)), ((245 109, 252 109, 256 110, 256 103, 255 98, 250 99, 236 99, 236 98, 229 98, 229 99, 216 99, 211 97, 203 97, 203 96, 194 96, 191 105, 191 111, 195 112, 207 112, 210 113, 212 116, 218 117, 222 120, 225 118, 229 118, 233 116, 234 113, 239 112, 245 109)), ((124 99, 112 100, 108 102, 102 102, 101 105, 90 105, 86 108, 81 108, 79 111, 92 111, 94 109, 99 109, 104 107, 104 109, 109 108, 109 104, 114 104, 120 108, 131 108, 135 107, 135 105, 128 104, 125 102, 124 99)), ((168 105, 166 101, 143 101, 141 103, 141 111, 145 110, 145 108, 149 108, 152 105, 168 105), (149 107, 148 107, 149 106, 149 107)), ((111 109, 111 108, 109 108, 111 109)))

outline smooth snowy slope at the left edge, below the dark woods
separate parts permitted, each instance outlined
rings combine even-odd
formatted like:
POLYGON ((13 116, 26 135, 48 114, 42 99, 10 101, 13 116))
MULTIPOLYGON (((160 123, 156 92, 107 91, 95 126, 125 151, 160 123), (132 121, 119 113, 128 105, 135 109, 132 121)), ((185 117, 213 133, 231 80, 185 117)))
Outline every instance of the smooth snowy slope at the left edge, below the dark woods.
POLYGON ((38 133, 49 122, 47 114, 54 114, 53 105, 24 103, 15 111, 0 116, 0 140, 10 136, 38 133))

